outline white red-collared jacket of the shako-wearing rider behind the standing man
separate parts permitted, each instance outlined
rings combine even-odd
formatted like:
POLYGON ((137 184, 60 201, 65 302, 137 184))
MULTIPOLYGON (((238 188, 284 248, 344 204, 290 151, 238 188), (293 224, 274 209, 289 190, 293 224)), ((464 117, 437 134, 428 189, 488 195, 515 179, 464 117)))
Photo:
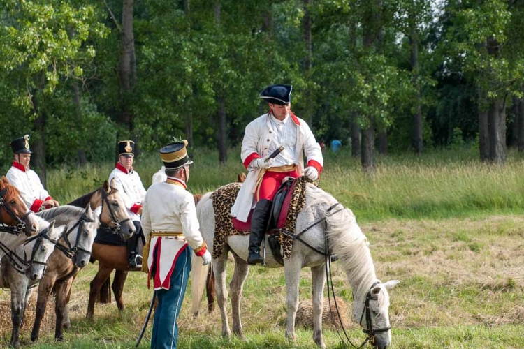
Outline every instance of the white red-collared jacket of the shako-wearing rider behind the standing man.
POLYGON ((115 179, 115 188, 118 189, 131 221, 140 221, 138 210, 142 207, 145 198, 145 188, 140 180, 138 172, 131 170, 129 172, 120 163, 117 163, 115 170, 109 175, 109 183, 115 179))

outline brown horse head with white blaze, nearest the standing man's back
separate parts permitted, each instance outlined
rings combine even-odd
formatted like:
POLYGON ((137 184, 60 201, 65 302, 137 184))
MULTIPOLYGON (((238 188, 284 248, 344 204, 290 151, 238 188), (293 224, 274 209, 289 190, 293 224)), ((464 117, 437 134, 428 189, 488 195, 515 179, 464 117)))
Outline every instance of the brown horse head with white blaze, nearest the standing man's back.
POLYGON ((124 200, 115 188, 115 179, 112 179, 111 184, 104 181, 102 191, 101 222, 119 232, 123 239, 129 239, 136 232, 136 228, 127 213, 124 200))

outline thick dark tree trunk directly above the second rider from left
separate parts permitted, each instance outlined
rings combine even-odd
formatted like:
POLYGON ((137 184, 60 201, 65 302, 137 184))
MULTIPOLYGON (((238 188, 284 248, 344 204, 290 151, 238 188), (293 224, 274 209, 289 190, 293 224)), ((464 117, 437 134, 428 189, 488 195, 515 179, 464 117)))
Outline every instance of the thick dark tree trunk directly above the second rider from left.
POLYGON ((133 131, 133 115, 129 110, 131 90, 136 81, 136 54, 133 35, 133 0, 122 2, 122 50, 119 61, 119 99, 120 115, 117 121, 133 131))

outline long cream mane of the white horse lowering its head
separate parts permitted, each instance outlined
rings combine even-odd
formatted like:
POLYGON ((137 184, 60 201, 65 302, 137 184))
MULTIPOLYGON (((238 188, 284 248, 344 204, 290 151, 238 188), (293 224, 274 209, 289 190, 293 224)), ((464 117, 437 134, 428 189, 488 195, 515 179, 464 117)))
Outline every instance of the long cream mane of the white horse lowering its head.
MULTIPOLYGON (((337 203, 332 195, 312 184, 307 184, 306 196, 310 199, 308 205, 323 204, 328 206, 337 203)), ((326 208, 327 209, 327 208, 326 208)), ((333 210, 340 209, 337 205, 333 210)), ((373 260, 371 258, 369 242, 356 223, 351 209, 342 211, 327 218, 326 234, 333 253, 340 257, 349 281, 353 281, 356 289, 354 295, 365 295, 370 286, 377 281, 373 260)), ((380 302, 379 302, 380 304, 380 302)))

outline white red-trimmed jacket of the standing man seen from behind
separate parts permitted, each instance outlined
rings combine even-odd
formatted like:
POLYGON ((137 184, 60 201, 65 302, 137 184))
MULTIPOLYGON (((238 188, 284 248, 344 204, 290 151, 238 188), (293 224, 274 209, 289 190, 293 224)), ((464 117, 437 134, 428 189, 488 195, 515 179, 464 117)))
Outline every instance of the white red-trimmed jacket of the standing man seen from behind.
POLYGON ((180 179, 169 177, 168 182, 153 184, 147 189, 142 212, 142 230, 146 241, 151 232, 182 232, 185 237, 151 238, 147 267, 155 290, 169 289, 170 276, 178 255, 188 244, 198 256, 206 251, 196 218, 193 195, 185 189, 184 181, 180 179), (155 256, 153 251, 157 245, 159 249, 155 256), (153 269, 153 265, 156 269, 153 269), (153 270, 154 274, 151 274, 153 270))

